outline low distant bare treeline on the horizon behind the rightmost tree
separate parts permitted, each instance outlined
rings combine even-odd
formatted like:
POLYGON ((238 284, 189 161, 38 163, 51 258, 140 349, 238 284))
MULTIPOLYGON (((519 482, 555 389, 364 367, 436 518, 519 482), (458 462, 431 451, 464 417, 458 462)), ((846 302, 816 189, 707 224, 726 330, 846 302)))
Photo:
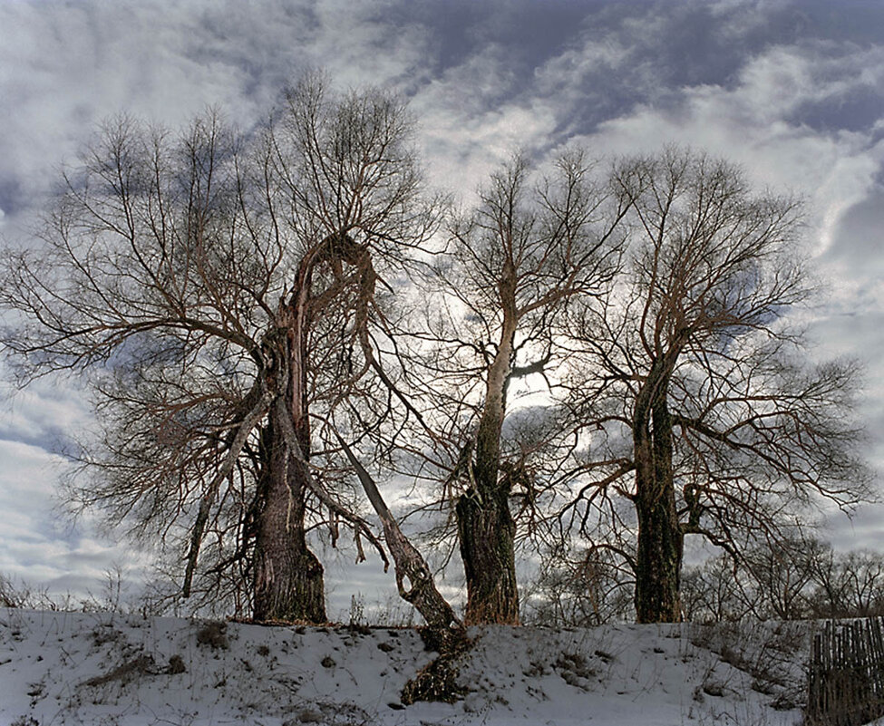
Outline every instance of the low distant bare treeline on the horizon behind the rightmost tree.
MULTIPOLYGON (((632 618, 634 583, 604 550, 539 578, 526 619, 549 625, 593 625, 632 618)), ((884 615, 884 554, 837 551, 812 537, 724 553, 685 566, 685 621, 802 620, 884 615)))

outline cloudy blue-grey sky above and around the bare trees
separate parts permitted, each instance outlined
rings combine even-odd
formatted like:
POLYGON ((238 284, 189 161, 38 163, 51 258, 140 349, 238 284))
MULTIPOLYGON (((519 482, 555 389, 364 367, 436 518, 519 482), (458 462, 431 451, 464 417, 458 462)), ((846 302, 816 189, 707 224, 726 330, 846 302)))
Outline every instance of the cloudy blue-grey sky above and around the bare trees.
MULTIPOLYGON (((248 127, 316 67, 341 88, 405 93, 432 179, 464 193, 516 147, 604 156, 677 142, 803 195, 830 288, 809 314, 815 354, 868 363, 862 412, 884 460, 884 3, 3 0, 0 235, 24 234, 102 118, 174 127, 217 104, 248 127)), ((54 452, 87 421, 83 405, 70 382, 4 390, 0 573, 98 589, 127 549, 53 515, 54 452)), ((836 518, 830 537, 884 548, 881 521, 874 508, 836 518)))

